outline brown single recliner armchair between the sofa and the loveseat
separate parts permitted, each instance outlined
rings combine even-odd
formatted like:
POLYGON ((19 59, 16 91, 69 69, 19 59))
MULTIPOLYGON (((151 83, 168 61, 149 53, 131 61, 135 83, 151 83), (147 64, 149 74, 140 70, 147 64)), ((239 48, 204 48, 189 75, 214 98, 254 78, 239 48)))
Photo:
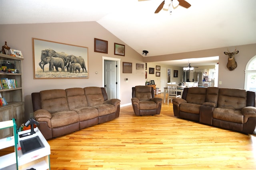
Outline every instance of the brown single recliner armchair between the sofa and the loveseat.
POLYGON ((156 98, 154 88, 150 86, 132 87, 132 108, 135 115, 160 114, 162 98, 156 98))

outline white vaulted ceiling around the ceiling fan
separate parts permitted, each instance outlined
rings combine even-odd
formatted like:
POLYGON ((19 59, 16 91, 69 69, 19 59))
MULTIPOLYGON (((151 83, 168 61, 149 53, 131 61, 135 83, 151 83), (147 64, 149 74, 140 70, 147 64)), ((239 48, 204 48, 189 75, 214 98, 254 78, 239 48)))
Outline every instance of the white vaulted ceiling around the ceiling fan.
POLYGON ((0 0, 0 24, 97 21, 147 57, 256 43, 256 0, 186 1, 170 15, 162 0, 0 0))

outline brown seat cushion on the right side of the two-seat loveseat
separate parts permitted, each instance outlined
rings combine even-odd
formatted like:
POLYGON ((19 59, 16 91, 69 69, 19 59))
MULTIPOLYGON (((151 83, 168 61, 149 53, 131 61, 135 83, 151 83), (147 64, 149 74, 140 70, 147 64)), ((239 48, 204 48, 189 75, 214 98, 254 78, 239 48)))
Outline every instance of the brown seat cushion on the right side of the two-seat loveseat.
POLYGON ((212 113, 212 118, 235 123, 244 123, 244 115, 240 110, 215 108, 212 113))

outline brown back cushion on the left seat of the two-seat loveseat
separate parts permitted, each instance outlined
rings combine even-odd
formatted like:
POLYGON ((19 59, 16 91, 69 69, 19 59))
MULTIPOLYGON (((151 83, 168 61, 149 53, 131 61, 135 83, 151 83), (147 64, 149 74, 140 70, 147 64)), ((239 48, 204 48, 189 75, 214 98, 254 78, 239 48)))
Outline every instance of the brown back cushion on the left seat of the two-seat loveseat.
POLYGON ((207 88, 193 87, 188 88, 188 94, 186 96, 186 101, 190 104, 203 104, 206 98, 207 88))

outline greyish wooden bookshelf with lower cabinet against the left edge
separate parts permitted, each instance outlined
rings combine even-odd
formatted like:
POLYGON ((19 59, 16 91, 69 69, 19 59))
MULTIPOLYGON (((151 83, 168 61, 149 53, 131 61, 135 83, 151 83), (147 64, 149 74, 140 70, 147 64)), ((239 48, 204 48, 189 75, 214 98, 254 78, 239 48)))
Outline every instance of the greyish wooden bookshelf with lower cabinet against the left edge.
MULTIPOLYGON (((17 127, 20 127, 20 125, 24 123, 22 61, 23 58, 0 54, 0 79, 15 80, 16 85, 16 88, 0 89, 2 98, 4 98, 8 103, 4 106, 0 106, 0 122, 15 118, 17 127), (2 71, 4 68, 3 66, 5 67, 6 72, 2 71), (8 72, 9 70, 10 72, 8 72)), ((2 84, 2 81, 0 83, 2 84)), ((8 137, 12 135, 11 130, 0 130, 1 137, 8 137)))

